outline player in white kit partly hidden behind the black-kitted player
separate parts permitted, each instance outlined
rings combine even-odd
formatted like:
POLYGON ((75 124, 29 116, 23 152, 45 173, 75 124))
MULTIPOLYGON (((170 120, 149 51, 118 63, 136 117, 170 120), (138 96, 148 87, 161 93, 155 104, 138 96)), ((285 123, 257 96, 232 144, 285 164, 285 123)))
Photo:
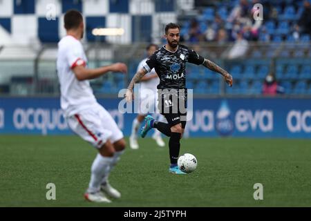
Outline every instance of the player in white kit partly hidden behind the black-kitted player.
MULTIPOLYGON (((147 50, 148 57, 150 57, 151 55, 153 55, 154 52, 156 52, 156 50, 158 50, 158 46, 156 44, 149 44, 146 50, 147 50)), ((140 64, 138 64, 138 70, 140 70, 146 64, 146 61, 147 61, 147 58, 140 61, 140 64)), ((144 77, 142 77, 142 79, 140 79, 140 113, 133 120, 132 133, 129 138, 130 146, 132 149, 139 148, 138 128, 140 128, 140 124, 144 120, 144 117, 146 117, 148 114, 148 108, 144 104, 147 104, 147 102, 150 102, 150 104, 152 103, 154 104, 154 106, 157 106, 156 102, 157 102, 158 96, 149 96, 147 93, 144 92, 144 90, 152 90, 154 92, 153 95, 158 95, 157 86, 159 83, 160 83, 160 79, 156 73, 156 70, 154 70, 154 68, 151 70, 150 73, 147 73, 146 75, 144 75, 144 77), (152 100, 148 101, 148 99, 152 99, 152 100)), ((159 119, 158 119, 159 121, 165 121, 162 115, 158 114, 158 116, 159 116, 159 119)), ((155 130, 152 138, 156 140, 156 143, 158 144, 158 146, 165 146, 165 143, 162 140, 160 131, 155 130)))

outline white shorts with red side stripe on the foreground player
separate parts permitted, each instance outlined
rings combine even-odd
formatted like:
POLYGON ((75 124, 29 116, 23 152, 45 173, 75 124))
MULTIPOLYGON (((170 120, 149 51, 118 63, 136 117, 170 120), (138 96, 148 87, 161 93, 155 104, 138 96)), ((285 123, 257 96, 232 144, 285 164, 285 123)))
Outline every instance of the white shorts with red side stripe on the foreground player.
POLYGON ((66 120, 73 132, 96 148, 101 148, 107 140, 114 143, 124 137, 113 117, 100 104, 66 117, 66 120))

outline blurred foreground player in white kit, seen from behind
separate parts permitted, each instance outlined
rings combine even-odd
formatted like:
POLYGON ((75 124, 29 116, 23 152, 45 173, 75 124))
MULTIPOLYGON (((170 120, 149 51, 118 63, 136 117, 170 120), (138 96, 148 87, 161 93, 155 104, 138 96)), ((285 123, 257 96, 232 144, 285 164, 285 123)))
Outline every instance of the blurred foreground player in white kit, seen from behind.
POLYGON ((109 173, 120 160, 126 144, 113 117, 97 103, 88 79, 100 77, 110 71, 126 73, 127 68, 122 63, 87 68, 86 55, 80 42, 84 35, 81 13, 77 10, 66 12, 64 26, 66 37, 59 41, 57 53, 62 110, 71 130, 98 150, 91 166, 91 181, 84 198, 92 202, 111 202, 107 195, 120 198, 121 194, 109 184, 109 173))

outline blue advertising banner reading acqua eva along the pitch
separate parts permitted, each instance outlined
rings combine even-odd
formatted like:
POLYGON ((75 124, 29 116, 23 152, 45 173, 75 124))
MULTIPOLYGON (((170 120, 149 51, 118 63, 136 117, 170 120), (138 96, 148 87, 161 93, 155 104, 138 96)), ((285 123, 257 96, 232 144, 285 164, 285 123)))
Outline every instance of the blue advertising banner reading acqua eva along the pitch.
MULTIPOLYGON (((128 136, 136 114, 120 113, 120 101, 98 99, 128 136)), ((194 99, 193 107, 185 136, 311 138, 311 99, 194 99)), ((0 133, 72 134, 56 97, 1 97, 0 133)))

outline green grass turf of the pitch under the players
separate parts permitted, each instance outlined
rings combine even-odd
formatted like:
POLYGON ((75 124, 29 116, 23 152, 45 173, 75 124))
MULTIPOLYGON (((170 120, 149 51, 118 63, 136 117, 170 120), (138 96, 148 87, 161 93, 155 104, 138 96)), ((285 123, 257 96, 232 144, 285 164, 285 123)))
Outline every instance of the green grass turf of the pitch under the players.
MULTIPOLYGON (((167 142, 167 140, 166 140, 167 142)), ((96 151, 77 136, 0 136, 0 206, 311 206, 311 140, 189 138, 198 168, 168 173, 168 148, 150 138, 127 149, 111 173, 112 204, 86 202, 96 151), (56 200, 46 200, 46 184, 56 200), (263 200, 253 185, 263 184, 263 200)))

